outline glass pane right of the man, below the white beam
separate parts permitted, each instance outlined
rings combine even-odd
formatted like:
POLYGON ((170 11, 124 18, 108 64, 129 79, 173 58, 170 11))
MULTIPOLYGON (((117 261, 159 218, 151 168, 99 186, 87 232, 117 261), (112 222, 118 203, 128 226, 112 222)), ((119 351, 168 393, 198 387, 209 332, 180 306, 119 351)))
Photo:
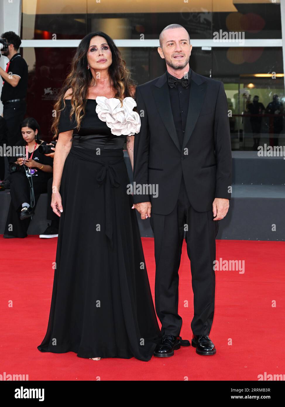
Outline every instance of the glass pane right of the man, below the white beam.
POLYGON ((232 112, 232 149, 284 145, 282 48, 223 47, 212 48, 211 52, 212 78, 224 82, 228 109, 232 112))

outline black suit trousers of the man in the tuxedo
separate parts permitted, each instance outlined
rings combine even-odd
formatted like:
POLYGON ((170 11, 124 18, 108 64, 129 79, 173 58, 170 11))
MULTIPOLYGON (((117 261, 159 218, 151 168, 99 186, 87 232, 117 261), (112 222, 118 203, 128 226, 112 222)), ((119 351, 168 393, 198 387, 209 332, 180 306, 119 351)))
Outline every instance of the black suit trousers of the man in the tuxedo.
MULTIPOLYGON (((191 329, 195 335, 210 333, 215 305, 214 261, 218 222, 213 220, 212 210, 197 212, 192 208, 183 175, 174 210, 168 215, 151 214, 156 264, 155 308, 162 324, 162 335, 179 336, 182 326, 182 318, 178 315, 178 269, 184 230, 194 293, 191 329)), ((181 298, 181 306, 185 300, 188 299, 181 298)))

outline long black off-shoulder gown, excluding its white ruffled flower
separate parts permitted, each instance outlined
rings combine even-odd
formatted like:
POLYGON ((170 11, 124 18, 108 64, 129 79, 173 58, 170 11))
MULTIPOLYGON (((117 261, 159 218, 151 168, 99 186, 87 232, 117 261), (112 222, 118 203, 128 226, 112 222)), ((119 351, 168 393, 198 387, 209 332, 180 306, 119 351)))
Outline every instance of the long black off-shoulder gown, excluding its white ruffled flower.
MULTIPOLYGON (((76 127, 71 102, 65 103, 59 133, 76 127)), ((37 347, 42 352, 148 361, 159 341, 133 196, 127 193, 125 139, 111 133, 98 118, 96 100, 87 99, 61 178, 63 212, 48 329, 37 347)))

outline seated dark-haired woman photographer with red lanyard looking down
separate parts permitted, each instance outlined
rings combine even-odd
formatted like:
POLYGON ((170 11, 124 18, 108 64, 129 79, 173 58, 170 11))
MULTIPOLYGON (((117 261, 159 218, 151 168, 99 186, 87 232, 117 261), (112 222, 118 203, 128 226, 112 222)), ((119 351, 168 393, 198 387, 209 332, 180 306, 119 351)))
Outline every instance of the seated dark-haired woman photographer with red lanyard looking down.
POLYGON ((48 179, 52 177, 53 159, 42 151, 47 142, 40 139, 37 121, 34 118, 24 119, 21 133, 23 139, 16 146, 23 148, 22 157, 9 159, 11 203, 4 238, 27 236, 39 195, 47 192, 48 179))

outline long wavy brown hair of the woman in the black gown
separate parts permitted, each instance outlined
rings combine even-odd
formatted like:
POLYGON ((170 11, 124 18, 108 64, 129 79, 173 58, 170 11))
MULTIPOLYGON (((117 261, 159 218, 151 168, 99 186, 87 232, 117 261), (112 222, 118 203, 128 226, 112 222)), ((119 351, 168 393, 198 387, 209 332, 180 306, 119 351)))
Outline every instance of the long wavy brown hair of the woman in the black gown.
POLYGON ((58 125, 61 111, 65 108, 64 95, 67 89, 72 89, 70 120, 75 113, 77 123, 76 130, 79 130, 82 118, 85 115, 85 105, 87 103, 88 88, 93 81, 91 70, 87 69, 87 51, 92 37, 99 35, 106 39, 112 53, 112 63, 108 68, 111 84, 115 90, 115 98, 120 99, 121 103, 125 97, 133 97, 133 90, 136 86, 135 81, 131 79, 131 72, 126 68, 126 62, 122 59, 121 53, 116 47, 113 39, 109 35, 96 31, 87 34, 77 47, 76 53, 71 62, 71 69, 54 103, 54 117, 51 130, 54 133, 53 138, 58 137, 58 125))

